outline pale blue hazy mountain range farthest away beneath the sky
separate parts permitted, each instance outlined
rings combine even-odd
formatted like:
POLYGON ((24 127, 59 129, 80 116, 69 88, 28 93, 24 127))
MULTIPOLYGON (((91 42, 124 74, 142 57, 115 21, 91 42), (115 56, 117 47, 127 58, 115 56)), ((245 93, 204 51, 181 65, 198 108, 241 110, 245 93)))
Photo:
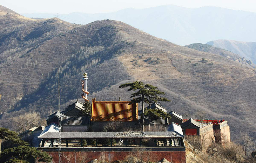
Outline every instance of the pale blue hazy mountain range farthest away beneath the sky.
MULTIPOLYGON (((22 14, 26 17, 56 17, 56 14, 22 14)), ((220 7, 184 8, 164 5, 145 9, 127 8, 112 13, 59 14, 62 20, 87 24, 96 20, 117 20, 155 37, 179 45, 228 39, 256 42, 256 13, 220 7)))

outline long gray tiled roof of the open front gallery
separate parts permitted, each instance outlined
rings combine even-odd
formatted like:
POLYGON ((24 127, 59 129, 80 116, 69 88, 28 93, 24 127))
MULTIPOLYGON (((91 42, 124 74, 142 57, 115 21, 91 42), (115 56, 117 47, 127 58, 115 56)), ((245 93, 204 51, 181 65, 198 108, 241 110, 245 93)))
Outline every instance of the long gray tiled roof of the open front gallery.
MULTIPOLYGON (((48 132, 38 138, 58 139, 58 132, 48 132)), ((184 136, 172 132, 61 132, 61 138, 183 138, 184 136)))

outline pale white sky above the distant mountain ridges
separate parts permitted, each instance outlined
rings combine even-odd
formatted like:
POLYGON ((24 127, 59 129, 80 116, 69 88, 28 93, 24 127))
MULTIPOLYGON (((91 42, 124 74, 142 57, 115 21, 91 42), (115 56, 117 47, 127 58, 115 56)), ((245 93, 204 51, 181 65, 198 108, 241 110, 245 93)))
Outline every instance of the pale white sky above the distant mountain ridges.
POLYGON ((0 0, 0 5, 18 13, 107 13, 124 8, 177 5, 188 8, 217 6, 256 13, 255 0, 0 0))

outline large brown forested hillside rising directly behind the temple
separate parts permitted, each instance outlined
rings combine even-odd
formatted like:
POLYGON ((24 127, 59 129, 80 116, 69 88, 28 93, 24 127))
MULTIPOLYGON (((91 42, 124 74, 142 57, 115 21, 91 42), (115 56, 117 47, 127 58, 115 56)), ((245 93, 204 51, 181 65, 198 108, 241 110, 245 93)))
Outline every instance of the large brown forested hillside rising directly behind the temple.
POLYGON ((168 111, 226 119, 231 135, 255 136, 255 69, 233 58, 179 46, 113 20, 86 25, 58 18, 33 20, 0 15, 1 126, 29 111, 42 117, 81 96, 81 75, 89 76, 89 98, 128 100, 119 85, 141 80, 166 92, 168 111), (246 128, 244 126, 247 126, 246 128))

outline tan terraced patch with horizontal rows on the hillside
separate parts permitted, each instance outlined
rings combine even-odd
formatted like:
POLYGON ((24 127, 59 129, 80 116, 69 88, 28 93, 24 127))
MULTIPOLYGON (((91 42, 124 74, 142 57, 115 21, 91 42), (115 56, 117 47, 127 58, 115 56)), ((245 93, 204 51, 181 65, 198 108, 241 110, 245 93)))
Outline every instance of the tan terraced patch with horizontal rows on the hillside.
POLYGON ((125 54, 118 58, 136 80, 177 79, 184 77, 173 66, 167 53, 125 54))

